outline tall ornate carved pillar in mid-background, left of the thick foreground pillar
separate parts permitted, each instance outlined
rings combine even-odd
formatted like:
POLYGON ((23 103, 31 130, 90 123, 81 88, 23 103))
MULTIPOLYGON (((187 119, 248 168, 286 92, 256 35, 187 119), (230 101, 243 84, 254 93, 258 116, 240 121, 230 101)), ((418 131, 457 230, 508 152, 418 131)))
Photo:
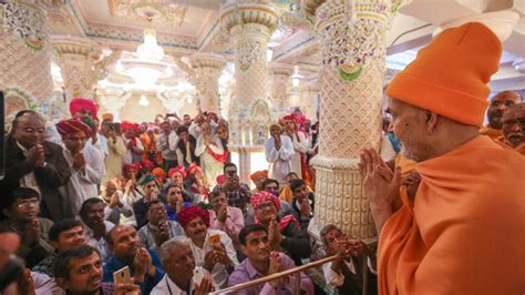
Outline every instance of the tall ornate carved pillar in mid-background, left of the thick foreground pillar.
POLYGON ((266 55, 279 13, 274 3, 258 0, 228 1, 220 9, 223 27, 229 32, 235 49, 236 91, 228 115, 231 155, 239 164, 240 180, 246 183, 250 183, 251 171, 267 169, 256 164, 261 164, 262 144, 272 121, 266 55))

